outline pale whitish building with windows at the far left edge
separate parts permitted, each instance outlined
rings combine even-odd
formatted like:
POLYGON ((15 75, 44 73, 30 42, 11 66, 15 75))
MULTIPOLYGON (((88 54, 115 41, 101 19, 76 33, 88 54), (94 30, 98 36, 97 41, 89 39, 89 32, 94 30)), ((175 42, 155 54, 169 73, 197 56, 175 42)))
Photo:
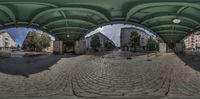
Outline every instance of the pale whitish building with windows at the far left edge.
POLYGON ((17 48, 16 42, 7 32, 0 33, 0 49, 17 48))

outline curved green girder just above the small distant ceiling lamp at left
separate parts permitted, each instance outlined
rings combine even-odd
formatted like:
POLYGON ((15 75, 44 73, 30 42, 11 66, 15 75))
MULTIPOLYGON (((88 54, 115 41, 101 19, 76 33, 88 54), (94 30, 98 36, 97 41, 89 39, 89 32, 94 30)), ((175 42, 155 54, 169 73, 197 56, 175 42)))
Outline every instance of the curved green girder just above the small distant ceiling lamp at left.
POLYGON ((67 31, 67 30, 71 30, 71 29, 75 29, 75 30, 78 29, 78 30, 88 31, 88 29, 80 28, 80 27, 59 27, 59 28, 50 29, 50 30, 48 30, 48 31, 54 32, 54 31, 63 30, 63 29, 65 29, 66 31, 67 31))

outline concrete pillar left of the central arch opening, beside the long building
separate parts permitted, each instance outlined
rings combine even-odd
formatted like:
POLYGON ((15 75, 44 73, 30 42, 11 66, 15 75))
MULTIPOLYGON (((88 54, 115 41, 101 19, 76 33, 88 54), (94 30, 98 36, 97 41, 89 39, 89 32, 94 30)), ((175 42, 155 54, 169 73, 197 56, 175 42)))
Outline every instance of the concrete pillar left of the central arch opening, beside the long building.
POLYGON ((85 40, 76 41, 74 49, 75 49, 75 54, 84 54, 86 52, 86 41, 85 40))

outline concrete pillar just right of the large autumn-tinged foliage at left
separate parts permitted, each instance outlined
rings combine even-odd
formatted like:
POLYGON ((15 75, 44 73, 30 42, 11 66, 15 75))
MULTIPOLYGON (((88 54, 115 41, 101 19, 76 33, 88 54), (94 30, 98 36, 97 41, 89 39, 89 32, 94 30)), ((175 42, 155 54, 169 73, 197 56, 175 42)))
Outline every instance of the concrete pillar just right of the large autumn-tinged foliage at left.
POLYGON ((54 41, 53 42, 53 53, 54 54, 63 54, 63 41, 54 41))

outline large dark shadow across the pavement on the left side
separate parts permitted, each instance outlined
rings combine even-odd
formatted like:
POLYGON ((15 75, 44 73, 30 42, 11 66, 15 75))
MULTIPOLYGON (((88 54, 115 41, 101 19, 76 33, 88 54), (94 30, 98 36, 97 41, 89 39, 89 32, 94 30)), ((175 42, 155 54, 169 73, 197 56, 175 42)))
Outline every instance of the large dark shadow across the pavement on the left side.
POLYGON ((37 57, 0 58, 0 72, 11 75, 29 77, 31 74, 49 70, 61 58, 74 56, 68 55, 44 55, 37 57))

